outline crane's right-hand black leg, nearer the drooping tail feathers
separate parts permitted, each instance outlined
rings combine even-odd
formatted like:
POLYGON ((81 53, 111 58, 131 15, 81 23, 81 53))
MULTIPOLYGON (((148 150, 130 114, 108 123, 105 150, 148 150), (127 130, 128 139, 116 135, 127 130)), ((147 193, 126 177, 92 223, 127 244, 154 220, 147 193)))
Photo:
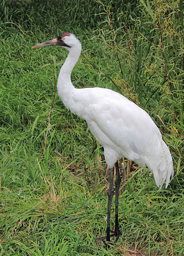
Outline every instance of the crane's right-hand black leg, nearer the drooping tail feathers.
POLYGON ((115 164, 116 168, 116 181, 115 181, 115 186, 116 186, 116 195, 115 195, 115 231, 114 235, 116 236, 116 242, 119 239, 119 236, 121 235, 120 229, 119 229, 119 223, 118 223, 118 200, 119 200, 119 194, 120 194, 120 183, 121 183, 121 176, 120 176, 120 171, 118 167, 118 161, 115 164))

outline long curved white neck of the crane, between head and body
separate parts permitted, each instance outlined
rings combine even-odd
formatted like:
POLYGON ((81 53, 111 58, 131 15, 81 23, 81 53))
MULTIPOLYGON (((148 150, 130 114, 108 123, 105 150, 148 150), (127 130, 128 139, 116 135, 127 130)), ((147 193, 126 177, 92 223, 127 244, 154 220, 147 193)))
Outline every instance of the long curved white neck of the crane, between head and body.
POLYGON ((78 44, 75 47, 69 49, 69 54, 61 67, 60 74, 58 77, 58 95, 61 98, 61 101, 69 109, 70 108, 70 98, 73 91, 76 88, 72 85, 71 82, 71 72, 74 66, 77 63, 77 60, 80 56, 81 44, 78 44))

